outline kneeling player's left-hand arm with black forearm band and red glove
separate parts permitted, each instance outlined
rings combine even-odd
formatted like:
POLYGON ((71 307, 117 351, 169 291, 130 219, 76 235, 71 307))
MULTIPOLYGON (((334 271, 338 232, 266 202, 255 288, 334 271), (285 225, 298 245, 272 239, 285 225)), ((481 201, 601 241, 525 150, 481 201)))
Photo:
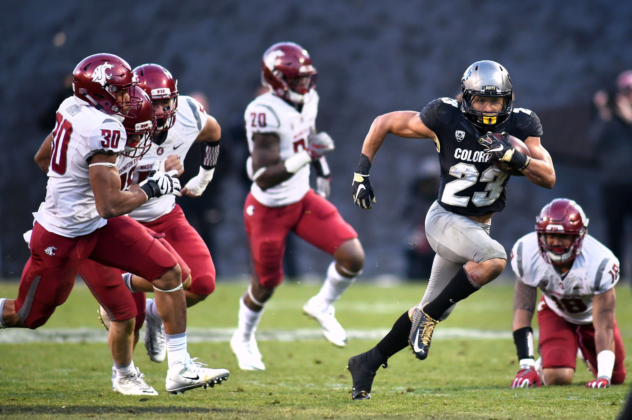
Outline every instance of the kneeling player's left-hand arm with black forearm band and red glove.
POLYGON ((540 376, 534 368, 533 360, 533 330, 531 320, 535 312, 535 302, 538 291, 535 287, 525 285, 520 278, 516 278, 514 287, 514 318, 513 337, 520 368, 511 388, 530 388, 540 386, 540 376))

